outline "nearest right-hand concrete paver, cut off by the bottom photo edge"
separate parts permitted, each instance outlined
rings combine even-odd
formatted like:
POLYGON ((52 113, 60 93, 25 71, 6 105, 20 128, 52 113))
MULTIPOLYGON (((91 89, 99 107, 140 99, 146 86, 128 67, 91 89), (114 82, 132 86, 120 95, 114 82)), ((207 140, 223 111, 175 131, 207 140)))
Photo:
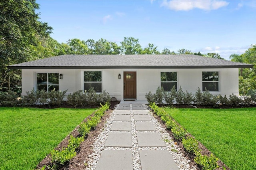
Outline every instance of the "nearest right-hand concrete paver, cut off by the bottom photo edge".
POLYGON ((140 150, 142 170, 179 170, 168 150, 140 150))

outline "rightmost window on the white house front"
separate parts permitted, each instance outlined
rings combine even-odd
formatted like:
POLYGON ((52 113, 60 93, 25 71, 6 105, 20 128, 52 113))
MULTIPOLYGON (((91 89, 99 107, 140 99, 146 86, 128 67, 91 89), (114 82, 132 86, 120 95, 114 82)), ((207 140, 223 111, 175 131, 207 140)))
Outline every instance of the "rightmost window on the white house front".
POLYGON ((219 91, 219 72, 218 71, 203 71, 202 81, 203 81, 203 91, 205 91, 205 88, 208 91, 219 91))

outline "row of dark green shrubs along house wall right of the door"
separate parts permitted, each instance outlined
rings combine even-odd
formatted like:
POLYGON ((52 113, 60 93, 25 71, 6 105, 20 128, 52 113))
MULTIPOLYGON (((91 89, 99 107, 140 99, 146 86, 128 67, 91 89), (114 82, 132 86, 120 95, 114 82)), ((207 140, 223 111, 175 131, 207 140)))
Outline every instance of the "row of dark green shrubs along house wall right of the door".
POLYGON ((218 105, 227 105, 227 106, 239 106, 239 105, 256 105, 256 90, 249 90, 247 96, 237 97, 232 94, 229 98, 224 95, 212 95, 207 89, 201 92, 198 87, 195 95, 191 92, 183 91, 180 87, 178 91, 176 91, 175 86, 171 89, 170 92, 164 91, 163 87, 159 87, 156 89, 156 93, 148 92, 145 95, 148 103, 158 103, 163 104, 163 100, 168 105, 173 105, 174 102, 178 105, 212 105, 217 107, 218 105))

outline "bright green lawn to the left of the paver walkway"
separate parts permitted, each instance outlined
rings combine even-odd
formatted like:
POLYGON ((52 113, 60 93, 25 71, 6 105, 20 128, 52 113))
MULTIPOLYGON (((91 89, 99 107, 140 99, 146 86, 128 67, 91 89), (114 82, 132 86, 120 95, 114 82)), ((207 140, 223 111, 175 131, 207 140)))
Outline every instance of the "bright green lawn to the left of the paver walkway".
POLYGON ((0 169, 34 169, 96 109, 0 108, 0 169))

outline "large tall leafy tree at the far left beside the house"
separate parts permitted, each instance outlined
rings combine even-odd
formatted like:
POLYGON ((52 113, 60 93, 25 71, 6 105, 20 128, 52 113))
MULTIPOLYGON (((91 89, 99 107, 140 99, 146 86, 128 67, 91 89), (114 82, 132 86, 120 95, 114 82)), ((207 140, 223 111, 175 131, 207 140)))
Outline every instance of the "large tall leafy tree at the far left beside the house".
POLYGON ((47 37, 52 28, 40 22, 36 0, 0 1, 0 90, 10 89, 18 70, 8 70, 7 65, 33 60, 32 52, 40 47, 40 38, 47 37))

